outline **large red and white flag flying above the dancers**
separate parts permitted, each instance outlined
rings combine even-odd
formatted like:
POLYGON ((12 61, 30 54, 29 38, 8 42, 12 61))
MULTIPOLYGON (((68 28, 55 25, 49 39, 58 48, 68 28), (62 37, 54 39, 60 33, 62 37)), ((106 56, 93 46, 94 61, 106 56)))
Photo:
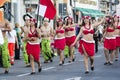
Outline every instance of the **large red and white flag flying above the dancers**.
POLYGON ((56 9, 51 0, 40 0, 36 14, 49 19, 54 19, 56 15, 56 9))

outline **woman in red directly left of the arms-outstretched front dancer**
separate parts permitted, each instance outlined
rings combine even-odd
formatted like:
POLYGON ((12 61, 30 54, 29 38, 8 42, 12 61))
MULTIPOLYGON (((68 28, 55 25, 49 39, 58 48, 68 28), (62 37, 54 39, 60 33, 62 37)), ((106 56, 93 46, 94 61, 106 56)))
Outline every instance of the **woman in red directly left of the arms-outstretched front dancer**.
POLYGON ((75 25, 73 24, 73 19, 71 17, 67 18, 66 26, 65 26, 65 37, 66 37, 66 45, 68 46, 70 60, 69 62, 74 61, 74 47, 71 47, 71 44, 75 41, 75 25))

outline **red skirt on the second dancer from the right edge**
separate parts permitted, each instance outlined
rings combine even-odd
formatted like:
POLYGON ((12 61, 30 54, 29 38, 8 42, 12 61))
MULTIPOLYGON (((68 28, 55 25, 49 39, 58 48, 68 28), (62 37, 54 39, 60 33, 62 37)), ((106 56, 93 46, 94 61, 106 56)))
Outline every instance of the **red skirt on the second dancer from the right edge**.
POLYGON ((116 49, 116 39, 105 39, 104 40, 104 48, 108 50, 116 49))

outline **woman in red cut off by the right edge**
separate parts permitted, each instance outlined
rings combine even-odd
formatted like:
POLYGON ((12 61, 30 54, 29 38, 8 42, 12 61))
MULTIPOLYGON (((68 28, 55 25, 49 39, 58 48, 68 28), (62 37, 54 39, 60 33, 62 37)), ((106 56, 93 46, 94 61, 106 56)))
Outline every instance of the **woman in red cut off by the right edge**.
POLYGON ((115 52, 115 61, 118 61, 118 53, 120 48, 120 21, 119 16, 114 15, 114 25, 115 25, 115 36, 116 36, 116 52, 115 52))

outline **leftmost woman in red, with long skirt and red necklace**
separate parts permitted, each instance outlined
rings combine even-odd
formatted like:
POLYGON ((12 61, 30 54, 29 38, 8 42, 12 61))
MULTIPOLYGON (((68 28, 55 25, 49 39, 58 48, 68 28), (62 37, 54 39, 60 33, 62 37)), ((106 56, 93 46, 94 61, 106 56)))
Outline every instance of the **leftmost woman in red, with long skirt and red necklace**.
POLYGON ((36 28, 35 23, 36 19, 31 18, 30 19, 30 27, 27 31, 27 54, 29 55, 30 58, 30 64, 32 67, 32 72, 31 74, 35 74, 35 67, 34 67, 34 61, 37 62, 38 64, 38 72, 41 72, 41 64, 40 64, 40 43, 39 43, 39 38, 40 38, 40 30, 36 28))

